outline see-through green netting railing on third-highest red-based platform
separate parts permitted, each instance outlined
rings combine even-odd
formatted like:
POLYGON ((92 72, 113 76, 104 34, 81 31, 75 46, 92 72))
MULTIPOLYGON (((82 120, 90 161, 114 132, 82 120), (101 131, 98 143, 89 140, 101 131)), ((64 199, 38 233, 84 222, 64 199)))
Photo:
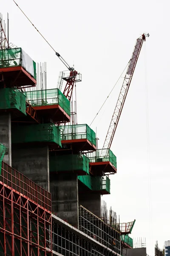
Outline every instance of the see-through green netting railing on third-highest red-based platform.
POLYGON ((61 140, 87 139, 96 146, 96 134, 88 125, 64 125, 59 128, 61 140))

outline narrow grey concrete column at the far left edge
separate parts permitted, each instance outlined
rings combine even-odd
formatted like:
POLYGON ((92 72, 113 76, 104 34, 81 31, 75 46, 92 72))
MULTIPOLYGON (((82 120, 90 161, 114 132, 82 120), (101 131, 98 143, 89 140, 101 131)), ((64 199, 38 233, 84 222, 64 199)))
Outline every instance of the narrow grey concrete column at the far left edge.
POLYGON ((11 114, 0 115, 0 143, 6 146, 3 161, 11 166, 11 114))

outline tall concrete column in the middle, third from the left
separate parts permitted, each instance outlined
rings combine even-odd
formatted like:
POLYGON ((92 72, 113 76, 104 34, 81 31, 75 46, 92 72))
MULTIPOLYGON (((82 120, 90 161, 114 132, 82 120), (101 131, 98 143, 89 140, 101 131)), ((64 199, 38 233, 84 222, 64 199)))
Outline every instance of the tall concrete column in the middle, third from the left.
POLYGON ((50 175, 52 212, 74 227, 79 227, 77 174, 50 175))

